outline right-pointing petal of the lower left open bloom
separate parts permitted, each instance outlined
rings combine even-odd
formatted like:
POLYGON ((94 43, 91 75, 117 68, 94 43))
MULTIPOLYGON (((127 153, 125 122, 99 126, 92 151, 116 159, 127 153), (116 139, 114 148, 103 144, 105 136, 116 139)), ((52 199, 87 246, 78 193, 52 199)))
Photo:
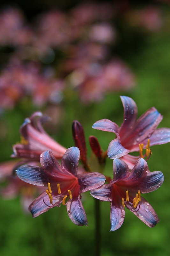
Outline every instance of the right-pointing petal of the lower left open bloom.
POLYGON ((80 194, 94 188, 99 188, 105 183, 106 177, 99 172, 84 172, 77 175, 80 194))

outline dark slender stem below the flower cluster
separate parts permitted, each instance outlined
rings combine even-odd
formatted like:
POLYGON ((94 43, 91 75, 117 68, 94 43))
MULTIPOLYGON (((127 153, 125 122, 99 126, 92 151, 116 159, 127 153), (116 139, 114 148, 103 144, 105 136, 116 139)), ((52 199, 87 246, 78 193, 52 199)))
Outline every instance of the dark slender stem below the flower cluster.
POLYGON ((100 229, 100 200, 94 198, 95 200, 95 220, 96 220, 96 233, 95 233, 95 240, 96 240, 96 256, 100 256, 100 242, 101 242, 101 229, 100 229))

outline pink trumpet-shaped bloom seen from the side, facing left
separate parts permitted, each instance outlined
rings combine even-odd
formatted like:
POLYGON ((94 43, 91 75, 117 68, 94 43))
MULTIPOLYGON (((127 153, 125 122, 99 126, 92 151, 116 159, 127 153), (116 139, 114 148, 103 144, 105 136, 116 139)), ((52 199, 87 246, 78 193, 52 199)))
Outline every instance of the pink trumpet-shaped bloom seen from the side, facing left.
POLYGON ((13 146, 14 153, 11 157, 26 158, 28 161, 39 161, 43 151, 52 149, 54 156, 61 159, 66 148, 53 140, 42 128, 42 123, 49 120, 41 112, 35 112, 26 118, 20 128, 21 143, 13 146))

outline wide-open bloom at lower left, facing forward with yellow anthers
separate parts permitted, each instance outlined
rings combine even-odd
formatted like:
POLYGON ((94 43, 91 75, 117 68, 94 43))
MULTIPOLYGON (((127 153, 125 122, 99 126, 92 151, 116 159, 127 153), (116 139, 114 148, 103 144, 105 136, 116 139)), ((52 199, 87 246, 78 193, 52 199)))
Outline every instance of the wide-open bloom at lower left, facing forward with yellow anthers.
POLYGON ((29 206, 33 217, 63 204, 67 205, 73 223, 78 226, 88 224, 80 194, 100 187, 106 178, 98 172, 77 174, 79 158, 80 150, 77 147, 68 148, 60 167, 50 150, 40 156, 42 167, 22 165, 18 168, 16 172, 21 180, 37 186, 48 186, 29 206))

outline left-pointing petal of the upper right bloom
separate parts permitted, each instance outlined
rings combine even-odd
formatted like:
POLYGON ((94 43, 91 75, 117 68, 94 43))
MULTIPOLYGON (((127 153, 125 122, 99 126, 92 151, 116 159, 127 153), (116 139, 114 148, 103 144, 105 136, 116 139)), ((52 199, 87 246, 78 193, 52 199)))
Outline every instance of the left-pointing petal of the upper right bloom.
POLYGON ((92 128, 106 132, 114 132, 117 136, 119 136, 119 126, 108 119, 101 119, 97 121, 92 125, 92 128))

